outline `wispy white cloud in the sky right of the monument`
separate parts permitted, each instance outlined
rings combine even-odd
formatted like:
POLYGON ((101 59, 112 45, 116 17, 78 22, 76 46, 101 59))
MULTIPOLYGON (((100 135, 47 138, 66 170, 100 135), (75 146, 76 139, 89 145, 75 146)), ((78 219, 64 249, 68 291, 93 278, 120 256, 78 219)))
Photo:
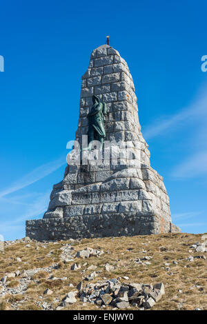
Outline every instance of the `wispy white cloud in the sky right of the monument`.
MULTIPOLYGON (((207 174, 207 92, 206 85, 197 98, 187 108, 168 117, 157 119, 152 125, 144 130, 146 139, 151 139, 157 135, 175 132, 179 128, 188 125, 193 128, 194 136, 187 140, 189 142, 189 156, 179 161, 173 168, 171 175, 176 178, 190 178, 193 176, 207 174), (193 154, 192 154, 193 152, 193 154)), ((183 136, 183 134, 182 134, 183 136)))

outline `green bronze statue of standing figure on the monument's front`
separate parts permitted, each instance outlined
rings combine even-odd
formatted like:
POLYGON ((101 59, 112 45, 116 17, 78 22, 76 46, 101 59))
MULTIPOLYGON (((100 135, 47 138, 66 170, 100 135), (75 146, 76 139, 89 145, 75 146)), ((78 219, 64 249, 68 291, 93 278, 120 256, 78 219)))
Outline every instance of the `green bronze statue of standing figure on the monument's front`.
POLYGON ((104 121, 106 116, 106 103, 101 103, 97 96, 92 96, 92 108, 88 114, 88 150, 91 150, 92 141, 99 141, 103 146, 106 132, 104 121))

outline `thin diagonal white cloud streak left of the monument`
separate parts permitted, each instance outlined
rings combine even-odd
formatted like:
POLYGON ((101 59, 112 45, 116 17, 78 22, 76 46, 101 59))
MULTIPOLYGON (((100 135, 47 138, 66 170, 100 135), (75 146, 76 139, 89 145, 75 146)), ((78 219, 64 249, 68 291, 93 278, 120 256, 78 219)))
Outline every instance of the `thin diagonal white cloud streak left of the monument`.
POLYGON ((12 192, 16 192, 22 188, 31 185, 34 182, 43 179, 48 174, 54 172, 55 170, 59 169, 62 165, 66 164, 66 156, 61 156, 59 159, 43 164, 38 168, 32 170, 32 172, 26 174, 18 181, 15 181, 10 185, 9 188, 0 192, 0 197, 6 196, 7 194, 11 194, 12 192))

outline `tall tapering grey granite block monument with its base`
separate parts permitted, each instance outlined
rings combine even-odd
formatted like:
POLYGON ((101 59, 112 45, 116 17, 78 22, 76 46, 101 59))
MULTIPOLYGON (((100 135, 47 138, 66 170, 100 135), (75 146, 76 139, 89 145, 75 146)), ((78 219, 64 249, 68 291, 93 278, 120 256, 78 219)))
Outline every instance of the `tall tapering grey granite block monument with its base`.
POLYGON ((93 50, 83 74, 75 139, 80 150, 68 154, 63 181, 53 186, 43 219, 26 221, 26 236, 56 240, 179 231, 163 178, 150 166, 128 65, 110 45, 93 50), (94 109, 100 112, 98 126, 91 121, 94 109), (97 152, 99 159, 88 161, 97 152))

